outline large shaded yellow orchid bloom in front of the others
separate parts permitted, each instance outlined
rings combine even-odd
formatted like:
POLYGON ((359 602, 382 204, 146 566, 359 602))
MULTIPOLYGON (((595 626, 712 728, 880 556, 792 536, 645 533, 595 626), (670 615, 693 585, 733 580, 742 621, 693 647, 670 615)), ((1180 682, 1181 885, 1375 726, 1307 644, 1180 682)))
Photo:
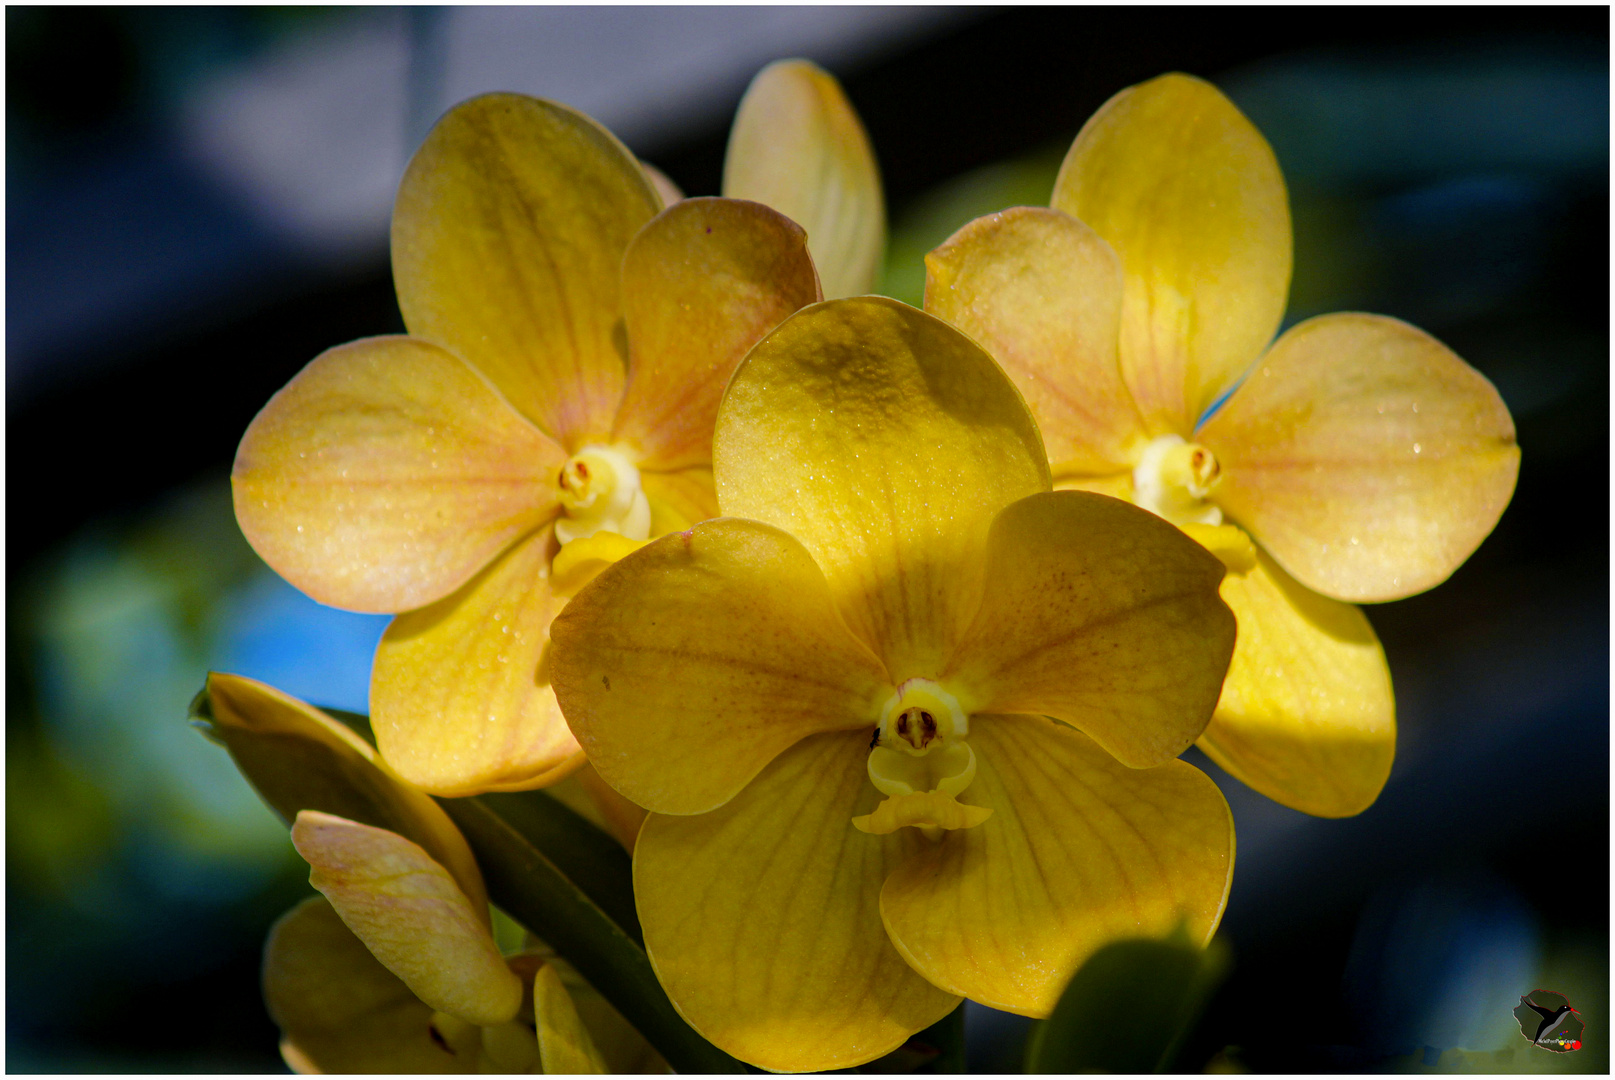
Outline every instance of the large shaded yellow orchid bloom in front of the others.
POLYGON ((879 297, 751 350, 714 471, 735 517, 606 568, 551 652, 591 764, 651 810, 646 951, 701 1035, 849 1067, 961 996, 1045 1015, 1116 936, 1210 938, 1232 823, 1172 759, 1234 644, 1214 557, 1051 492, 993 360, 879 297))

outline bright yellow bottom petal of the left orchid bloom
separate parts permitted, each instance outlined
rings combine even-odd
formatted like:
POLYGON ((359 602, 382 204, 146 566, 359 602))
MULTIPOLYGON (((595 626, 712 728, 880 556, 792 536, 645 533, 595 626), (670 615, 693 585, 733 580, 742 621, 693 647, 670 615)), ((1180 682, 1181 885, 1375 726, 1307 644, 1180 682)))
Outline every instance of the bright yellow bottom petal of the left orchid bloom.
POLYGON ((410 783, 449 796, 538 788, 580 764, 543 665, 559 607, 552 544, 549 530, 530 536, 381 636, 370 722, 410 783))

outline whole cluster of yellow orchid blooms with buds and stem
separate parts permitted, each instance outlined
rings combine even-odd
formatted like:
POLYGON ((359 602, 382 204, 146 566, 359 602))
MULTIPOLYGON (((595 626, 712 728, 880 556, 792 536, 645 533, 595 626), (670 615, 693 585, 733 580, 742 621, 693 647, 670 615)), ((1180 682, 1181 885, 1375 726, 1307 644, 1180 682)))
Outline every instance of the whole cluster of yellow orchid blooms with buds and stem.
POLYGON ((294 1069, 862 1065, 1208 943, 1234 825, 1190 744, 1308 814, 1379 794, 1353 604, 1495 525, 1491 384, 1391 318, 1274 339, 1284 181, 1189 76, 932 252, 924 310, 870 295, 883 241, 804 61, 720 199, 552 102, 428 136, 409 333, 315 358, 233 478, 276 571, 394 615, 373 715, 231 675, 194 710, 320 893, 265 957, 294 1069))

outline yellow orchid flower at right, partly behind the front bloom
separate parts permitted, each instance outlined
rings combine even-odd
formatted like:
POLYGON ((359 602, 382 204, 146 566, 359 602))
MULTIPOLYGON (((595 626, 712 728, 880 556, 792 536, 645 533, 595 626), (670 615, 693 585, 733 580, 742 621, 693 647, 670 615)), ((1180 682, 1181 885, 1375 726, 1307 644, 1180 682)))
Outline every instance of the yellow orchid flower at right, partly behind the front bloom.
POLYGON ((1239 644, 1200 747, 1344 817, 1395 751, 1391 673, 1352 601, 1444 581, 1508 504, 1520 450, 1491 383, 1407 323, 1324 315, 1269 344, 1289 279, 1273 150, 1214 87, 1168 74, 1084 126, 1053 208, 980 218, 927 257, 925 310, 1014 378, 1056 488, 1130 499, 1224 559, 1239 644))

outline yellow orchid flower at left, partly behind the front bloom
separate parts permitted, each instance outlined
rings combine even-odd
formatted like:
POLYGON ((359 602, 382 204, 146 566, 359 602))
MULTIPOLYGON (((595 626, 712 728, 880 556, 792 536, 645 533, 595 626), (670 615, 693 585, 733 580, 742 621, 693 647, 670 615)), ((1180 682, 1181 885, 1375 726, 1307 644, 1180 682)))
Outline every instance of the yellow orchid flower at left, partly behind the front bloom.
POLYGON ((399 613, 371 680, 392 768, 436 794, 544 786, 583 762, 544 676, 549 620, 712 515, 724 384, 819 299, 814 266, 780 213, 662 210, 591 119, 491 94, 410 161, 392 273, 409 336, 331 349, 270 400, 236 517, 313 599, 399 613))

